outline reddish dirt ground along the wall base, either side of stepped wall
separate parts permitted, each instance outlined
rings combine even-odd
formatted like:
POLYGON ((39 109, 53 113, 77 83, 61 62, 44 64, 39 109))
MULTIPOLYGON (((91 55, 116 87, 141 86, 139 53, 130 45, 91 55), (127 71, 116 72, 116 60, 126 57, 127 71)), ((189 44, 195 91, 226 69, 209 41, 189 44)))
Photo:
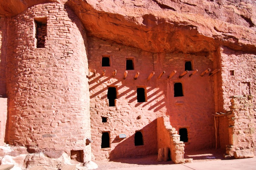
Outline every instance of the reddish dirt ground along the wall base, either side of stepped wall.
MULTIPOLYGON (((224 150, 200 150, 193 152, 186 152, 184 158, 193 158, 193 162, 204 162, 223 159, 224 150)), ((174 164, 172 161, 157 162, 157 155, 147 155, 132 158, 119 158, 115 160, 101 160, 94 161, 98 164, 97 170, 115 169, 115 168, 131 168, 131 167, 145 167, 150 165, 170 165, 174 164)))

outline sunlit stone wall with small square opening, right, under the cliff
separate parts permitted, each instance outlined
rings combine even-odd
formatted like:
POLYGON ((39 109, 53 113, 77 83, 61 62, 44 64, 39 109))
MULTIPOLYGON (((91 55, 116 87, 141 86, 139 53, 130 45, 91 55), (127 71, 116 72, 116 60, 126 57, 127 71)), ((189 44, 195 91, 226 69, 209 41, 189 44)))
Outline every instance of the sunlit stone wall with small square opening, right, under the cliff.
MULTIPOLYGON (((222 84, 219 84, 219 91, 222 91, 223 100, 218 100, 219 111, 229 111, 230 96, 233 95, 256 95, 256 55, 245 52, 232 51, 226 47, 220 48, 221 77, 222 84), (234 76, 230 71, 234 71, 234 76)), ((254 114, 256 116, 256 99, 253 98, 254 114)), ((219 112, 216 111, 216 112, 219 112)), ((256 119, 255 126, 256 126, 256 119)), ((255 133, 256 141, 256 133, 255 133)), ((255 150, 256 153, 256 150, 255 150)))

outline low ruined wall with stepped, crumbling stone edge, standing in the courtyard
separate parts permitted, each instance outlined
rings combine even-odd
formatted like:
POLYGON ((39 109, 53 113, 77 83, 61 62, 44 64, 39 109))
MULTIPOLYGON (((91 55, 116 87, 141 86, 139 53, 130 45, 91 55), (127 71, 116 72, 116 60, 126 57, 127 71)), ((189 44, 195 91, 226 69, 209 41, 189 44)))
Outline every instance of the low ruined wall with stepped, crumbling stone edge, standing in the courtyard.
POLYGON ((157 136, 158 136, 158 149, 169 148, 171 160, 174 163, 191 162, 192 159, 184 159, 184 146, 183 141, 180 141, 175 128, 171 126, 169 116, 162 116, 157 118, 157 136))

